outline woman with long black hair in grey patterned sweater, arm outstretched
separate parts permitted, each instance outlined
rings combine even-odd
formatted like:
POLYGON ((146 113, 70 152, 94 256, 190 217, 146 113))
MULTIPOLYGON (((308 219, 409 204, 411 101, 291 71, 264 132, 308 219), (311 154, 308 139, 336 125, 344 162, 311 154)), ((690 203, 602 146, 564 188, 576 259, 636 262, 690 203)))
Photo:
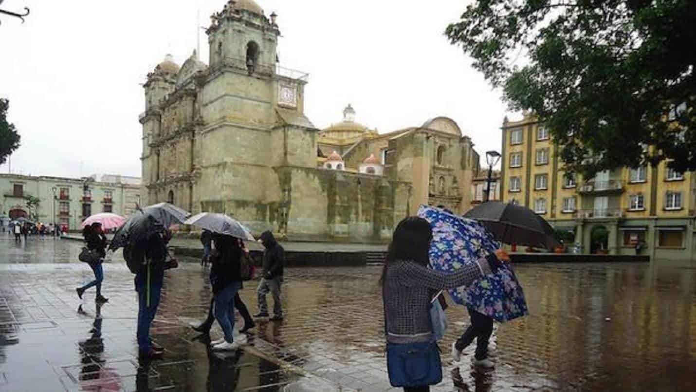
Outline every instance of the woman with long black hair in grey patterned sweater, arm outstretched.
MULTIPOLYGON (((438 272, 427 267, 431 240, 432 228, 428 221, 419 217, 402 220, 394 230, 379 279, 384 304, 387 361, 393 385, 396 380, 392 375, 399 372, 408 373, 409 368, 407 366, 405 369, 397 369, 396 367, 402 366, 402 363, 397 356, 391 356, 390 352, 421 350, 436 356, 437 366, 441 366, 429 311, 432 299, 437 293, 440 290, 470 285, 482 276, 495 272, 500 267, 501 260, 509 261, 507 253, 498 249, 495 254, 477 260, 474 264, 464 265, 452 274, 438 272), (395 358, 392 363, 391 358, 395 358)), ((423 366, 427 367, 427 364, 423 366)), ((441 370, 439 371, 441 379, 441 370)), ((404 386, 406 392, 429 390, 430 386, 427 384, 404 386)))

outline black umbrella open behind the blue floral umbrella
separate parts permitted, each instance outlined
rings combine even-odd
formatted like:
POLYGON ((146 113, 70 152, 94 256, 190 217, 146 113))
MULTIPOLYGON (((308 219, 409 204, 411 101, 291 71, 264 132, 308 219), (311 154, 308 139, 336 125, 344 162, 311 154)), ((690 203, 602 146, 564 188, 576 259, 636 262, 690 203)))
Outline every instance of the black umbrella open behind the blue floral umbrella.
POLYGON ((496 240, 505 244, 553 249, 558 244, 553 227, 534 211, 519 205, 487 201, 467 212, 464 217, 480 221, 496 240))

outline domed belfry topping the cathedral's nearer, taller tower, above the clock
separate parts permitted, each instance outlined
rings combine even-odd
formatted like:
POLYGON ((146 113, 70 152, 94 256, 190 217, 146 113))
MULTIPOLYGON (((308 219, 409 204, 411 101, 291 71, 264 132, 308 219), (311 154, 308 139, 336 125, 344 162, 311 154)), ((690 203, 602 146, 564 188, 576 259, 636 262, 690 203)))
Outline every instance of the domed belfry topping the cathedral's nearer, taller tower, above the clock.
POLYGON ((271 77, 276 65, 278 25, 253 0, 229 0, 210 17, 207 29, 210 68, 235 68, 249 75, 271 77))

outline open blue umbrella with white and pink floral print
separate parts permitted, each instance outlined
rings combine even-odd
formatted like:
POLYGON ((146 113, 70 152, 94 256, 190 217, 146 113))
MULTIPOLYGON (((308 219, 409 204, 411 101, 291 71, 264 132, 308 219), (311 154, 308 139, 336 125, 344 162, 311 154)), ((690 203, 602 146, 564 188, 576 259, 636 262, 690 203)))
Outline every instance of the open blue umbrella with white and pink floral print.
MULTIPOLYGON (((430 222, 433 240, 430 246, 430 267, 442 272, 454 272, 464 265, 488 256, 500 247, 482 224, 457 217, 439 208, 422 205, 418 216, 430 222)), ((528 315, 522 286, 505 264, 495 274, 484 276, 468 287, 449 290, 457 304, 506 322, 528 315)))

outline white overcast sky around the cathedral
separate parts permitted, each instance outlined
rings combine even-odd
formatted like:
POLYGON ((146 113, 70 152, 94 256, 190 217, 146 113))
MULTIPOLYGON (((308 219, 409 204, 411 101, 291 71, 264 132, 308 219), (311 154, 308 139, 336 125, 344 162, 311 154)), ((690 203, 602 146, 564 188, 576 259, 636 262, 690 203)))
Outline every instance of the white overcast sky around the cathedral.
MULTIPOLYGON (((448 116, 483 155, 500 150, 506 107, 443 35, 468 2, 258 0, 278 14, 281 65, 310 74, 305 110, 317 127, 340 121, 348 103, 379 132, 448 116)), ((24 24, 0 15, 0 97, 22 134, 12 172, 141 175, 145 75, 167 53, 181 65, 196 26, 224 3, 4 1, 6 10, 31 8, 24 24)), ((207 63, 204 31, 200 49, 207 63)))

